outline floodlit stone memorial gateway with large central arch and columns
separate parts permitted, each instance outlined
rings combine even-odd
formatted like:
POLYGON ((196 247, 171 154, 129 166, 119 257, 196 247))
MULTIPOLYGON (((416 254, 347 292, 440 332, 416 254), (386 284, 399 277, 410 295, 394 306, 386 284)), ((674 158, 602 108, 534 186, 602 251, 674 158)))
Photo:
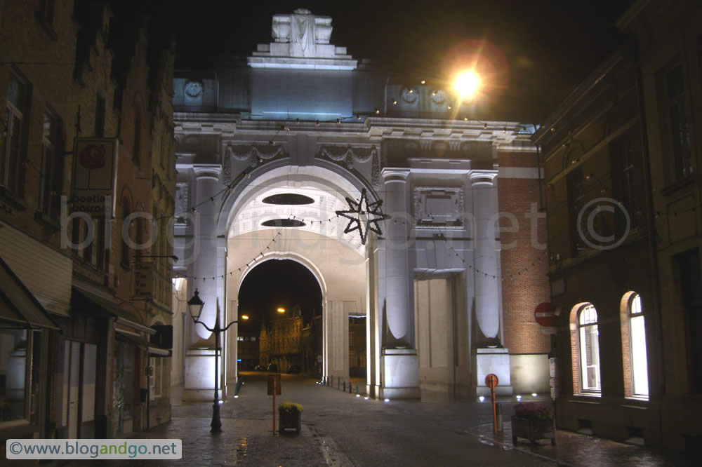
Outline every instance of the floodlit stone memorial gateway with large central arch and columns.
MULTIPOLYGON (((373 397, 472 397, 486 393, 490 372, 500 378, 498 391, 511 394, 515 362, 519 374, 539 375, 534 384, 543 386, 545 374, 548 388, 548 339, 536 327, 527 338, 505 335, 524 327, 531 295, 543 296, 548 283, 536 280, 524 298, 524 283, 505 282, 503 273, 522 276, 531 263, 523 278, 533 279, 545 264, 534 266, 527 250, 505 259, 494 227, 505 205, 538 201, 527 126, 458 119, 444 90, 393 84, 330 44, 330 35, 331 18, 275 15, 272 43, 174 82, 176 212, 184 213, 175 226, 176 275, 187 278, 187 297, 199 290, 201 320, 213 324, 217 304, 223 323, 236 319, 247 273, 293 259, 322 290, 325 377, 348 376, 352 315, 366 316, 373 397), (392 216, 365 244, 358 232, 344 234, 348 219, 336 217, 362 191, 392 216), (291 204, 291 195, 309 201, 291 204)), ((210 336, 182 323, 174 365, 183 368, 183 398, 206 400, 210 336)), ((237 379, 236 336, 234 325, 220 360, 223 397, 237 379)))

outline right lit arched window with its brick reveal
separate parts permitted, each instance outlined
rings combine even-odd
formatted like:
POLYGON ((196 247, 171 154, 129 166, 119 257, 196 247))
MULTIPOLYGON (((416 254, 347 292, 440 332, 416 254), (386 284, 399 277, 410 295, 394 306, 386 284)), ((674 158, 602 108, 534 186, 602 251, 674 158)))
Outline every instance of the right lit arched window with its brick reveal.
POLYGON ((648 397, 649 372, 641 296, 636 292, 627 292, 621 299, 620 312, 624 395, 648 397))

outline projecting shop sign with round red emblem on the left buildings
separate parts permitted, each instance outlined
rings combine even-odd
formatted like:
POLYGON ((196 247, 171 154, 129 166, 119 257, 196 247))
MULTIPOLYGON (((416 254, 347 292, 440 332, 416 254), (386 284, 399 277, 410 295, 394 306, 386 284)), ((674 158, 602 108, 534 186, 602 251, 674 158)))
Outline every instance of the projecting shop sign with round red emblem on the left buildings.
POLYGON ((107 212, 114 216, 118 144, 116 138, 76 139, 71 212, 86 212, 91 217, 104 217, 107 212))

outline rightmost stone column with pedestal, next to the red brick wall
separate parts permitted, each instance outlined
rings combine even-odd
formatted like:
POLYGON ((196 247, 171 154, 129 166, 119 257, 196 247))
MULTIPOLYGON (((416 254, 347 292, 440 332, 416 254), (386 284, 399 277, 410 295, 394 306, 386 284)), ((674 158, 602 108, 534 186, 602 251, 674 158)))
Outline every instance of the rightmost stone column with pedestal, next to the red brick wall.
POLYGON ((489 394, 487 374, 499 379, 496 393, 512 394, 510 354, 503 347, 501 266, 496 170, 471 172, 473 202, 473 277, 475 279, 474 356, 478 394, 489 394))

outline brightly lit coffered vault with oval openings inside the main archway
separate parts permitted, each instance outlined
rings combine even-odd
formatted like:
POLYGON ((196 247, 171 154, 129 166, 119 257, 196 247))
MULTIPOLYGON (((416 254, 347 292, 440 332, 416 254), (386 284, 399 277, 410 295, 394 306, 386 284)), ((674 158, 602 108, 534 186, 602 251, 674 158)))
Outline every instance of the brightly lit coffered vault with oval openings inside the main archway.
POLYGON ((348 219, 336 217, 337 210, 348 209, 347 196, 358 200, 360 195, 359 189, 331 170, 277 168, 252 179, 239 195, 227 237, 284 227, 336 239, 364 255, 359 232, 344 234, 348 219))

